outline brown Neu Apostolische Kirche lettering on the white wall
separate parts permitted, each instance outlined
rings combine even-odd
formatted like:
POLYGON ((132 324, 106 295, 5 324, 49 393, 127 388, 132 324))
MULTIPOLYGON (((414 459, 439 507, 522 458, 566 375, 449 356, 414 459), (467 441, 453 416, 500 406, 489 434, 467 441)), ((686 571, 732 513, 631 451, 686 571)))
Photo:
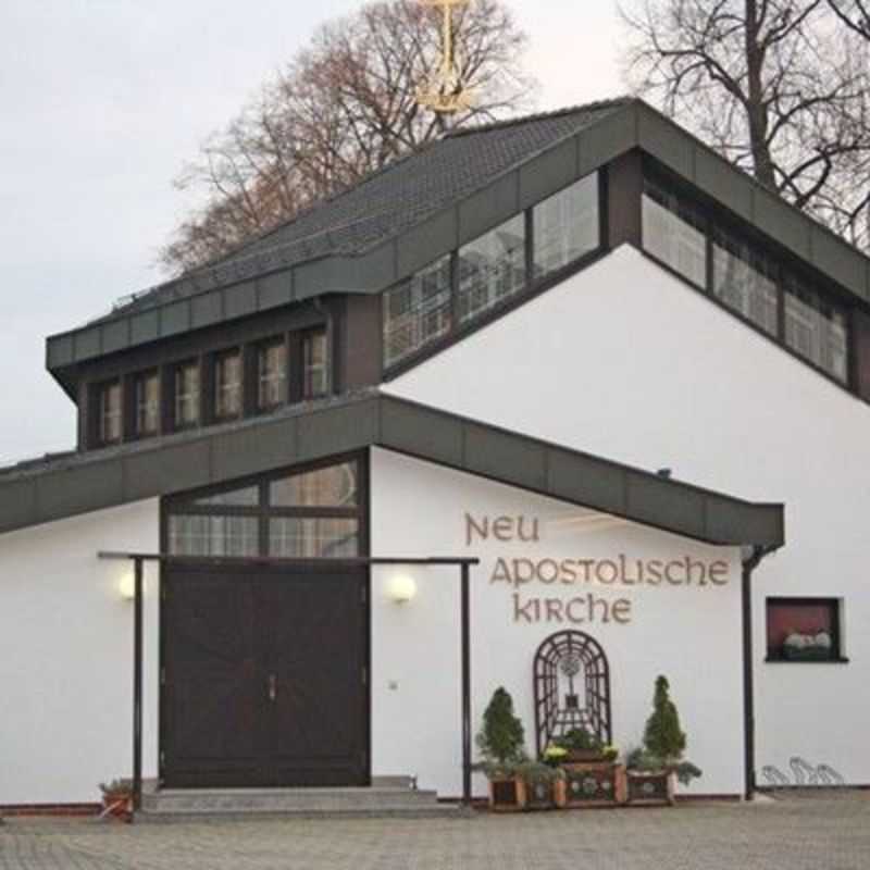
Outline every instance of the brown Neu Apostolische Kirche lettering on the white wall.
MULTIPOLYGON (((465 513, 465 546, 498 542, 540 544, 537 517, 473 517, 465 513)), ((717 588, 730 582, 724 559, 674 555, 670 559, 638 559, 619 552, 606 559, 496 558, 489 584, 510 593, 514 623, 616 623, 633 619, 630 598, 614 597, 632 587, 717 588), (549 595, 542 594, 547 587, 549 595), (561 593, 555 597, 556 591, 561 593), (570 593, 576 591, 576 595, 570 593), (607 592, 609 594, 602 594, 607 592), (568 595, 566 595, 568 593, 568 595)))

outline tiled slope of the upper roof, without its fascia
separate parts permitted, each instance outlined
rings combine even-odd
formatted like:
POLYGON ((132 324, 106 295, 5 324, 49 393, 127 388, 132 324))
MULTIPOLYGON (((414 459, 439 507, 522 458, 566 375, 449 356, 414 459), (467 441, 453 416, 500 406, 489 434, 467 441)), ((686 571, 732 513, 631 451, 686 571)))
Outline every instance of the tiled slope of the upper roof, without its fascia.
POLYGON ((363 253, 626 102, 620 98, 457 130, 308 209, 219 263, 139 295, 110 316, 320 257, 363 253))

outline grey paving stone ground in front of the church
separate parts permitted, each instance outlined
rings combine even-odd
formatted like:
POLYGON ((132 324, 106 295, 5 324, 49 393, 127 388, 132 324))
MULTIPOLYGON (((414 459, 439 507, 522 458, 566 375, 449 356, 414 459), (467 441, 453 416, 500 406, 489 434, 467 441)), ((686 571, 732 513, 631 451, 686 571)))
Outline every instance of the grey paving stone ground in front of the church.
POLYGON ((13 820, 0 870, 870 870, 870 794, 433 820, 13 820))

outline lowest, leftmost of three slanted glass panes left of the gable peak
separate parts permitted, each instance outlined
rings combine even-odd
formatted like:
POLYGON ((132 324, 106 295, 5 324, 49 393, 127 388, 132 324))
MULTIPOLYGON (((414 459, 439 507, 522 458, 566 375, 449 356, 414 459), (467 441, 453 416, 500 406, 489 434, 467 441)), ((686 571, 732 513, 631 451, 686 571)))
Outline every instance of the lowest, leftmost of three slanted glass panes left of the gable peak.
POLYGON ((384 294, 384 362, 391 365, 450 330, 450 257, 384 294))

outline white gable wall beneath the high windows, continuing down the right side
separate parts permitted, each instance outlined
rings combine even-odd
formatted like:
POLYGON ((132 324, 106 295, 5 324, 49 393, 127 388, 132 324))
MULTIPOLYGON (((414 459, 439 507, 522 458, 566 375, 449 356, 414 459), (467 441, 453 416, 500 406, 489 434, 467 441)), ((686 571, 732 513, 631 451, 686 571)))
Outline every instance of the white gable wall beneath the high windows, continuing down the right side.
POLYGON ((758 770, 800 756, 870 783, 865 402, 627 246, 386 389, 784 501, 787 545, 755 580, 758 770), (850 663, 765 663, 769 595, 842 597, 850 663))

